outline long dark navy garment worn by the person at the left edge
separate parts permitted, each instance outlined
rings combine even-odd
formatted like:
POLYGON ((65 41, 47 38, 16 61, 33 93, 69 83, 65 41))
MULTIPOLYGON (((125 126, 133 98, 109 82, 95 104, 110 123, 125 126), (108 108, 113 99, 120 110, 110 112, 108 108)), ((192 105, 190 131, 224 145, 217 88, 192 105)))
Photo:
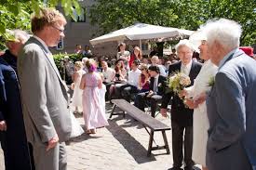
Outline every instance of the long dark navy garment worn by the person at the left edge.
POLYGON ((0 131, 2 149, 7 169, 31 169, 30 157, 23 122, 20 87, 16 72, 5 59, 13 56, 5 53, 0 58, 0 121, 7 122, 7 131, 0 131))

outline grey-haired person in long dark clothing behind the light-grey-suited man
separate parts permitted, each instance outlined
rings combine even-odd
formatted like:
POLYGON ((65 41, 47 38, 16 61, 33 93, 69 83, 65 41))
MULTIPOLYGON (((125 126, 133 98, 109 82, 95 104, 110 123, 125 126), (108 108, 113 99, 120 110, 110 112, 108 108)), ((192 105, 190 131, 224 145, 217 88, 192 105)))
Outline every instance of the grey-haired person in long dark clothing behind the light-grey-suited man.
POLYGON ((0 141, 7 170, 30 170, 34 163, 30 159, 17 77, 18 53, 29 36, 20 30, 9 33, 15 40, 7 40, 8 49, 0 58, 0 141))

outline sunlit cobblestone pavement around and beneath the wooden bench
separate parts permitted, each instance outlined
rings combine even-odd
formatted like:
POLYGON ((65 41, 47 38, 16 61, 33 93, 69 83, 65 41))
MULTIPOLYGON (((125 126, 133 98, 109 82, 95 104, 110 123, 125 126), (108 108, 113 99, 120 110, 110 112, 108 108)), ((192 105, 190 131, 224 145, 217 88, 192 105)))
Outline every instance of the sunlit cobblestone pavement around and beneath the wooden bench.
MULTIPOLYGON (((110 111, 107 104, 107 117, 110 111)), ((78 115, 76 119, 83 126, 83 117, 78 115)), ((156 119, 170 125, 168 118, 157 115, 156 119)), ((124 119, 120 115, 113 116, 109 124, 95 135, 83 134, 72 139, 67 146, 68 170, 167 170, 171 167, 172 156, 166 150, 154 150, 151 157, 146 156, 149 135, 140 123, 128 115, 124 119)), ((171 152, 171 131, 167 131, 167 137, 171 152)), ((155 133, 155 143, 164 144, 160 132, 155 133)), ((1 153, 0 169, 4 169, 1 153)))

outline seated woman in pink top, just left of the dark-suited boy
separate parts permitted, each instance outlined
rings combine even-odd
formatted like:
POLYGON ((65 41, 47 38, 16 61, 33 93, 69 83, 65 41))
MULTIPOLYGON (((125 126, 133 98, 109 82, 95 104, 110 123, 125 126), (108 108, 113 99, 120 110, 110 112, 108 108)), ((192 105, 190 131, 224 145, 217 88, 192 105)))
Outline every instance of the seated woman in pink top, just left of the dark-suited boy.
POLYGON ((141 64, 141 75, 139 76, 139 93, 149 91, 149 79, 150 75, 146 64, 141 64))

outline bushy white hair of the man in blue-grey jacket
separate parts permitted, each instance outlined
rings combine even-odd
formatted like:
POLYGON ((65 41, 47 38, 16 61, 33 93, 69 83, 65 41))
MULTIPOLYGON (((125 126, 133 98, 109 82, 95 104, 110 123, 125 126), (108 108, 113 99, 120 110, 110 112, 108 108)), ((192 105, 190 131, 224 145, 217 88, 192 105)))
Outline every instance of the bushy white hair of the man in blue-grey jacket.
POLYGON ((209 45, 214 41, 229 49, 234 49, 240 45, 242 27, 235 20, 209 20, 202 26, 202 30, 207 36, 209 45))

